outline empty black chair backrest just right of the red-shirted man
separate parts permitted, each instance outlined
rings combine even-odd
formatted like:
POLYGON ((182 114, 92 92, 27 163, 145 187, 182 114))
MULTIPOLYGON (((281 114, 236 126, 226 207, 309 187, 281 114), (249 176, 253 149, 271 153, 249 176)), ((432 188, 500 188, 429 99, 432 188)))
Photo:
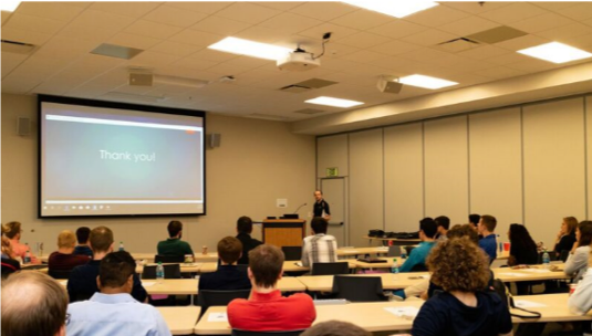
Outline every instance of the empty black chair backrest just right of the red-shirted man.
POLYGON ((380 276, 335 275, 332 292, 336 298, 351 302, 387 301, 383 294, 383 282, 380 276))

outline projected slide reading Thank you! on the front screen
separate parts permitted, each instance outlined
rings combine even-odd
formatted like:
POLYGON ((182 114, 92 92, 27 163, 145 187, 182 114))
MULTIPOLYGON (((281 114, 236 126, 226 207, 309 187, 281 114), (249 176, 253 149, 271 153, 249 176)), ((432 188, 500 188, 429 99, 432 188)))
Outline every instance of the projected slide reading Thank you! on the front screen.
POLYGON ((202 113, 40 107, 41 217, 204 213, 202 113))

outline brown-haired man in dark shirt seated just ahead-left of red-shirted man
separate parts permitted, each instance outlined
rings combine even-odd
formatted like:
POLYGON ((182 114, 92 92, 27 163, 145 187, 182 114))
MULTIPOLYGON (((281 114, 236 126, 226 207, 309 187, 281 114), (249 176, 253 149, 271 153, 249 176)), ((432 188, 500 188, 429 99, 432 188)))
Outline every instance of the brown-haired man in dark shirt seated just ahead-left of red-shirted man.
POLYGON ((251 281, 246 269, 238 269, 237 261, 242 253, 242 244, 233 237, 227 237, 218 242, 220 264, 214 273, 199 276, 199 291, 238 291, 250 290, 251 281))

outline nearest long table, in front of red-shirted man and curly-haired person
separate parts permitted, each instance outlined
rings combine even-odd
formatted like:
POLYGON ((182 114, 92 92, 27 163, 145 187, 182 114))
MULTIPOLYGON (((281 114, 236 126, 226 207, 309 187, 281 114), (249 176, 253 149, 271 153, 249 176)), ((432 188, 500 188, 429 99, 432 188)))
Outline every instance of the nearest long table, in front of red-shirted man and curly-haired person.
MULTIPOLYGON (((592 321, 588 315, 574 315, 568 308, 568 294, 515 296, 519 305, 540 312, 540 318, 522 319, 512 317, 512 323, 592 321)), ((408 330, 423 301, 350 303, 340 305, 316 305, 316 319, 313 325, 331 319, 353 323, 368 332, 408 330)), ((195 326, 196 335, 230 335, 231 328, 226 316, 226 307, 209 307, 195 326), (210 316, 217 316, 210 318, 210 316)))

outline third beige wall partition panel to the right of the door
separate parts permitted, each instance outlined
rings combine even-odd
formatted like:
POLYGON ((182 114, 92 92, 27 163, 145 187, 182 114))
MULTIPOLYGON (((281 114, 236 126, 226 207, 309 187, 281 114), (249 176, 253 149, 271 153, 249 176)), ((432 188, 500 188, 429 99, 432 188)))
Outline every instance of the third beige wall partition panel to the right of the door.
POLYGON ((467 116, 424 123, 425 214, 466 221, 468 199, 467 116))

